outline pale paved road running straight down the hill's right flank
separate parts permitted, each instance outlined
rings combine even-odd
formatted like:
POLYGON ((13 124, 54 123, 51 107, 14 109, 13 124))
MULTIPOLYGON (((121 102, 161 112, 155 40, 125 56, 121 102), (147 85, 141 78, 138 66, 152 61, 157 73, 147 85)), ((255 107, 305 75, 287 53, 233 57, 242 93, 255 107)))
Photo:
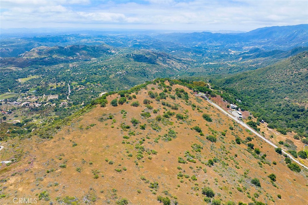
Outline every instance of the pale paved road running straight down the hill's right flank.
MULTIPOLYGON (((212 102, 204 93, 200 93, 199 95, 203 96, 209 103, 211 103, 213 106, 215 106, 217 109, 219 109, 220 111, 222 111, 225 115, 227 115, 228 117, 230 117, 231 119, 233 119, 234 121, 236 121, 237 123, 239 123, 241 126, 247 128, 248 130, 250 130, 253 134, 257 135, 258 137, 260 137, 261 139, 263 139, 265 142, 269 143, 271 146, 277 148, 277 146, 272 143, 270 140, 265 139, 262 135, 260 135, 259 133, 257 133, 253 128, 249 127, 249 125, 245 124, 244 122, 240 121, 239 119, 237 119, 236 117, 234 117, 233 115, 231 115, 230 113, 228 113, 227 111, 225 111, 224 109, 222 109, 219 105, 215 104, 214 102, 212 102)), ((298 162, 296 159, 294 159, 294 157, 292 155, 290 155, 289 153, 286 153, 284 150, 282 150, 282 152, 286 155, 288 155, 290 157, 290 159, 292 159, 294 162, 298 163, 300 166, 305 167, 306 169, 308 169, 308 167, 306 167, 305 165, 303 165, 302 163, 298 162)))

